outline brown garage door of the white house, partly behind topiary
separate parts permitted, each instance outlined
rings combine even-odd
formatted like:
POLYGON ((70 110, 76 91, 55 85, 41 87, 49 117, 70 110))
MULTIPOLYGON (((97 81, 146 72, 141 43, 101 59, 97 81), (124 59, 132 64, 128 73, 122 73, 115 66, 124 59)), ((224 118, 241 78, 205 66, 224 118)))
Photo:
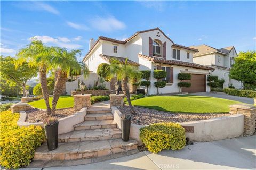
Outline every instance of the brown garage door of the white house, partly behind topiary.
POLYGON ((191 80, 184 82, 190 82, 191 87, 182 87, 182 92, 206 92, 206 75, 191 74, 191 80))

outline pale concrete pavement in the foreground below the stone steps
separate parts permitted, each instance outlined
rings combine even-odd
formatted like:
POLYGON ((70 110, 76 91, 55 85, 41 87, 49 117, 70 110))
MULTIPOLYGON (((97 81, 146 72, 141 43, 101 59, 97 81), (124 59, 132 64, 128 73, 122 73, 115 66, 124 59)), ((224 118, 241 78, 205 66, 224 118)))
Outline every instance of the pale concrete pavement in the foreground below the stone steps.
MULTIPOLYGON (((50 169, 255 169, 256 136, 202 142, 182 150, 138 154, 105 162, 50 169)), ((41 168, 39 168, 41 169, 41 168)))

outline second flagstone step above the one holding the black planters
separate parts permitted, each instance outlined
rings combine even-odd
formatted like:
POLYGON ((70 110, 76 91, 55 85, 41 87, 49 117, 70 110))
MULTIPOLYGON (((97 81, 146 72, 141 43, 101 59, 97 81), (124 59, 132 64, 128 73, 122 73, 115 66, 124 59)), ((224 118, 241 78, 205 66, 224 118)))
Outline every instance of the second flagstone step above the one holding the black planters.
POLYGON ((114 120, 93 120, 84 121, 74 125, 75 130, 100 129, 100 128, 116 128, 114 120))

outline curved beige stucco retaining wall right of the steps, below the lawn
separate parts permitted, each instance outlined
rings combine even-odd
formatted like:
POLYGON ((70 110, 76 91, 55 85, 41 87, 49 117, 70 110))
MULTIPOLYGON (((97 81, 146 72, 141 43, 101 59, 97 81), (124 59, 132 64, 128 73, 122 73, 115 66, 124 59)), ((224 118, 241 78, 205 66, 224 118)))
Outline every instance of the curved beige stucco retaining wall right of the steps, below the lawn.
MULTIPOLYGON (((186 137, 193 142, 208 142, 214 140, 230 139, 239 137, 244 130, 244 115, 235 114, 225 117, 212 118, 209 120, 179 123, 182 126, 194 126, 194 133, 187 133, 186 137)), ((140 128, 144 126, 131 124, 130 137, 140 140, 140 128)))

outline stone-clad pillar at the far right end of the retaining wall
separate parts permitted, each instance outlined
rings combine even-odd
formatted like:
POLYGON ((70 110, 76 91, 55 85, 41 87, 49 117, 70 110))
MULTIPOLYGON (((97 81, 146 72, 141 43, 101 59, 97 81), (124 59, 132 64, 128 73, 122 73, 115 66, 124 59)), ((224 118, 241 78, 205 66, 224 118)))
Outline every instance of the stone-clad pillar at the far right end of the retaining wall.
POLYGON ((230 106, 231 114, 244 115, 244 135, 252 135, 255 132, 256 107, 249 104, 234 104, 230 106))

